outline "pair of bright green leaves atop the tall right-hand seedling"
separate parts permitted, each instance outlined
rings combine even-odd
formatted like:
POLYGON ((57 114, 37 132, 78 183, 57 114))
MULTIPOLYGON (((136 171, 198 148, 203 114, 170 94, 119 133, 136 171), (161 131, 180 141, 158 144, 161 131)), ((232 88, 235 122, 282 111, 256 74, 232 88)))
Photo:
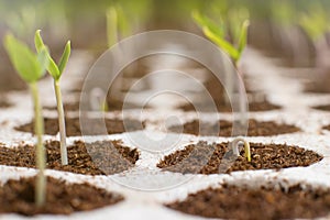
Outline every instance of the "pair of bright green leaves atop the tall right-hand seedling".
MULTIPOLYGON (((244 20, 240 25, 240 33, 238 34, 237 44, 232 44, 226 40, 228 33, 226 33, 224 25, 218 25, 208 16, 201 15, 199 12, 193 12, 195 22, 202 29, 204 34, 215 42, 220 48, 222 48, 233 61, 238 63, 243 50, 246 46, 248 28, 250 25, 249 20, 244 20)), ((233 23, 232 23, 233 24, 233 23)), ((235 23, 235 25, 238 25, 235 23)))

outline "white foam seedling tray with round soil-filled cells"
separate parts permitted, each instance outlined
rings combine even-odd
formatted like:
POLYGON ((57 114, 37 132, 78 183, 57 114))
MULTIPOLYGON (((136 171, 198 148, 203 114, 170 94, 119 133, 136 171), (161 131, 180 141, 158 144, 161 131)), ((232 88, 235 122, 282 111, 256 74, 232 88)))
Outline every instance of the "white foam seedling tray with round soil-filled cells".
MULTIPOLYGON (((74 53, 74 57, 69 62, 67 73, 64 75, 63 90, 69 89, 75 81, 81 80, 81 73, 86 72, 88 65, 86 54, 78 52, 74 53), (79 68, 76 68, 79 66, 79 68), (77 70, 78 69, 78 70, 77 70), (69 73, 69 74, 68 74, 69 73), (69 81, 69 82, 68 82, 69 81)), ((235 185, 249 185, 258 187, 261 185, 277 185, 290 186, 297 183, 301 185, 311 185, 312 187, 330 187, 330 140, 329 132, 321 131, 321 127, 330 123, 329 113, 310 109, 314 105, 327 101, 330 96, 302 95, 301 84, 299 80, 285 78, 283 67, 276 67, 274 63, 263 57, 258 52, 249 48, 242 64, 246 75, 261 81, 260 86, 265 89, 268 99, 284 107, 282 110, 253 112, 251 118, 267 121, 275 120, 277 122, 286 122, 295 124, 301 129, 301 132, 293 134, 283 134, 275 136, 258 136, 248 138, 251 142, 261 143, 286 143, 298 145, 307 150, 312 150, 321 155, 323 160, 309 167, 293 167, 280 170, 248 170, 234 172, 231 175, 182 175, 177 173, 162 172, 156 167, 157 162, 165 155, 177 150, 184 148, 189 143, 198 141, 222 142, 230 141, 228 138, 216 136, 194 136, 187 134, 164 133, 157 128, 162 125, 162 120, 168 116, 176 116, 180 122, 190 121, 196 118, 194 113, 186 113, 177 110, 146 110, 127 111, 125 117, 147 120, 144 131, 114 134, 107 136, 77 136, 69 138, 68 143, 75 140, 94 142, 97 140, 123 140, 124 144, 131 147, 136 147, 136 142, 143 145, 140 148, 140 160, 135 167, 121 174, 110 176, 84 176, 78 174, 46 170, 47 175, 66 179, 69 183, 88 182, 97 187, 106 188, 111 191, 117 191, 125 197, 125 200, 102 209, 77 212, 70 216, 47 216, 41 215, 38 219, 204 219, 200 217, 188 216, 180 213, 163 206, 164 202, 183 200, 189 193, 196 193, 199 189, 205 189, 210 186, 217 187, 222 183, 232 183, 235 185), (278 87, 275 87, 278 85, 278 87), (147 140, 146 136, 152 136, 155 140, 147 140), (175 144, 174 144, 175 143, 175 144), (168 148, 168 146, 172 146, 168 148), (128 187, 131 186, 131 187, 128 187), (133 187, 132 187, 133 186, 133 187), (150 189, 138 190, 134 188, 150 189), (157 190, 162 189, 162 190, 157 190)), ((295 70, 295 69, 286 69, 295 70)), ((52 81, 50 78, 41 81, 42 99, 47 105, 54 105, 52 81), (51 97, 51 98, 50 98, 51 97)), ((23 132, 18 132, 13 128, 15 125, 31 121, 32 105, 30 96, 26 92, 13 92, 9 95, 10 100, 16 102, 12 108, 1 109, 0 114, 0 142, 8 147, 18 145, 22 141, 25 143, 34 143, 35 139, 23 132)), ((67 101, 70 101, 70 96, 65 96, 67 101)), ((56 112, 45 111, 47 117, 56 117, 56 112)), ((77 112, 69 112, 69 116, 78 116, 77 112)), ((122 114, 108 113, 107 118, 121 118, 122 114)), ((213 121, 215 117, 220 119, 230 119, 231 114, 212 114, 204 113, 200 116, 206 121, 213 121)), ((56 136, 45 135, 45 140, 56 139, 56 136)), ((0 180, 6 183, 9 178, 18 179, 22 176, 35 175, 36 170, 24 167, 0 166, 0 180)), ((3 215, 0 219, 24 219, 18 215, 3 215)))

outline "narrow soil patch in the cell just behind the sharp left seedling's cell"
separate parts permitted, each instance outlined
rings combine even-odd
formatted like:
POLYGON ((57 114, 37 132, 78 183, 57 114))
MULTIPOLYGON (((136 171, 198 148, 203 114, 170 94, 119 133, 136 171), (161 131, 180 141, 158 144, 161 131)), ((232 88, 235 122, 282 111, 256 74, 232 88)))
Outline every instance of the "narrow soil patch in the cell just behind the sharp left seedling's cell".
MULTIPOLYGON (((58 133, 58 121, 57 118, 45 118, 45 134, 56 135, 58 133)), ((130 131, 143 130, 144 122, 136 120, 125 120, 125 125, 123 120, 120 119, 88 119, 86 122, 89 124, 85 128, 84 135, 98 135, 105 134, 102 123, 106 123, 108 134, 123 133, 130 131)), ((86 125, 85 125, 86 127, 86 125)), ((34 122, 31 121, 28 124, 16 127, 15 130, 34 133, 34 122)), ((79 118, 67 118, 66 119, 66 134, 67 136, 80 136, 80 122, 79 118)))

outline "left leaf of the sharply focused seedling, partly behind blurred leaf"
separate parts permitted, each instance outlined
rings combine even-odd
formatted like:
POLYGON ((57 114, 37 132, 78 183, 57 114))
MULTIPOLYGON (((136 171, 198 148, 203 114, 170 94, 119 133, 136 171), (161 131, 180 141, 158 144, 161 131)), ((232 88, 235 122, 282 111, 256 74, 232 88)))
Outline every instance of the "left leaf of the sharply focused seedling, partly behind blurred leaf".
MULTIPOLYGON (((34 35, 34 45, 35 45, 35 50, 37 51, 37 53, 41 52, 42 48, 46 47, 47 46, 44 44, 44 41, 40 34, 41 30, 37 30, 35 32, 35 35, 34 35)), ((50 75, 54 78, 54 79, 59 79, 61 77, 61 73, 59 73, 59 69, 56 65, 56 63, 54 62, 54 59, 51 57, 51 54, 48 52, 48 50, 46 50, 47 52, 47 57, 48 57, 48 66, 47 66, 47 70, 50 73, 50 75)))

